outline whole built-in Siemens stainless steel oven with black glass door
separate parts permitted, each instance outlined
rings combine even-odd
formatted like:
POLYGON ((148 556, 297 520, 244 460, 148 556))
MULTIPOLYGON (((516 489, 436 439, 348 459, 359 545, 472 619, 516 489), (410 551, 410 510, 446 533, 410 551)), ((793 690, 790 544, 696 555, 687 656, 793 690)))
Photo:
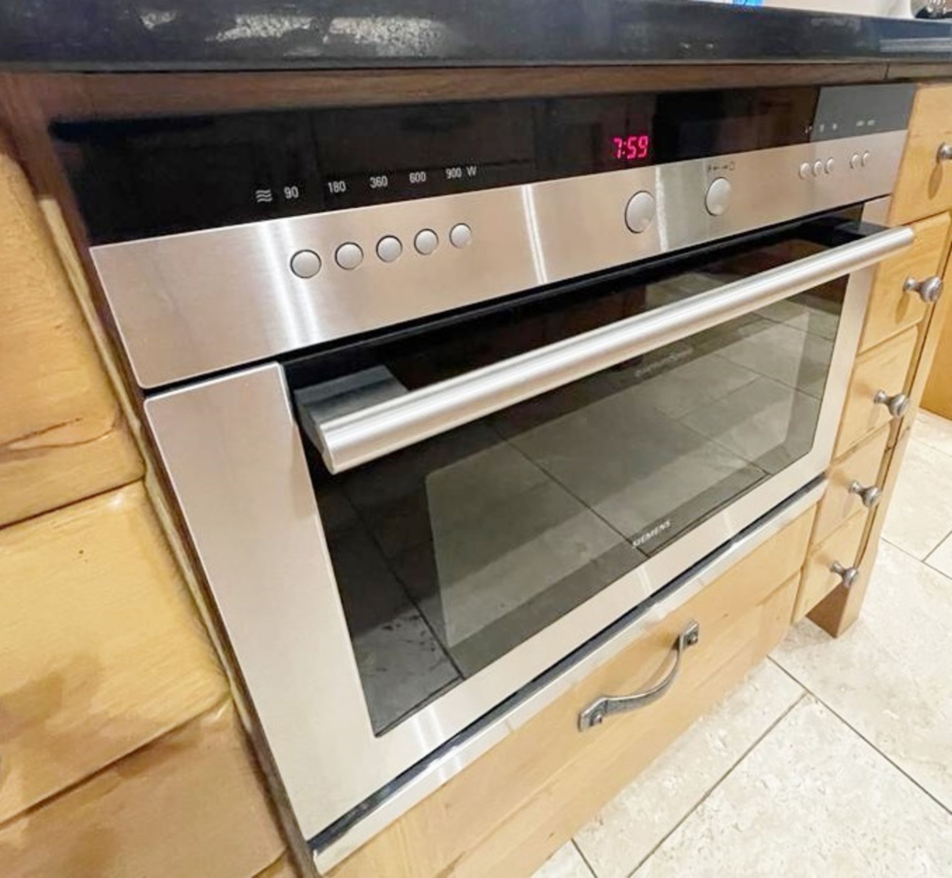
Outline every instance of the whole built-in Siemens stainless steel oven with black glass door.
POLYGON ((910 100, 55 127, 324 865, 815 497, 872 267, 913 239, 869 222, 910 100))

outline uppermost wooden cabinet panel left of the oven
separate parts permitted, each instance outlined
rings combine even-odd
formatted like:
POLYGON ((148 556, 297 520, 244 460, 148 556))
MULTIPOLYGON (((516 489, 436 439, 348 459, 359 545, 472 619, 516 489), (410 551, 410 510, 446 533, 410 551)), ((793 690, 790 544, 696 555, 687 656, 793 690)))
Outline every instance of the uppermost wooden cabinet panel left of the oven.
POLYGON ((23 172, 0 140, 0 525, 142 474, 23 172))

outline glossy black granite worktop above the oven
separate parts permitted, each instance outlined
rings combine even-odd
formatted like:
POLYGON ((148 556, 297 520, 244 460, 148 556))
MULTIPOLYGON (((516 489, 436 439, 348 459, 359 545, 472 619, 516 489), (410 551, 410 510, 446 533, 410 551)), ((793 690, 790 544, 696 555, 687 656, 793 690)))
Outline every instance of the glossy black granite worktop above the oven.
POLYGON ((952 22, 693 0, 10 0, 0 66, 263 70, 950 61, 952 22))

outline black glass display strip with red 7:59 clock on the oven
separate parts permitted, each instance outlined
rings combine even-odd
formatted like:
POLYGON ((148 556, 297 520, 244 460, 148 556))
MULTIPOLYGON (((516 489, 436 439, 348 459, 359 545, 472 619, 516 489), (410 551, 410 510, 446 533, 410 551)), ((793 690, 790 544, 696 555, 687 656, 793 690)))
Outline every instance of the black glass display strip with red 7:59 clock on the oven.
MULTIPOLYGON (((89 240, 110 244, 902 130, 913 90, 884 84, 276 110, 62 122, 52 134, 89 240)), ((416 247, 414 233, 401 240, 402 251, 439 247, 449 229, 418 231, 439 240, 425 233, 416 247)), ((397 245, 384 249, 392 255, 397 245)), ((360 258, 348 248, 337 261, 360 258)))

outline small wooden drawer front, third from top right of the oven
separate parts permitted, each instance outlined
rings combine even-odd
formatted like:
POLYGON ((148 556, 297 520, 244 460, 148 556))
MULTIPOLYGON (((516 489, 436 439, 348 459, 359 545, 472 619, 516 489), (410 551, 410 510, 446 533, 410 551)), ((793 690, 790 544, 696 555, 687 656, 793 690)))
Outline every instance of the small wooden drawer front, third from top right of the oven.
POLYGON ((906 389, 906 378, 917 340, 918 328, 913 327, 857 357, 846 391, 834 457, 839 457, 863 437, 892 420, 889 410, 873 402, 873 397, 878 390, 895 394, 906 389))

